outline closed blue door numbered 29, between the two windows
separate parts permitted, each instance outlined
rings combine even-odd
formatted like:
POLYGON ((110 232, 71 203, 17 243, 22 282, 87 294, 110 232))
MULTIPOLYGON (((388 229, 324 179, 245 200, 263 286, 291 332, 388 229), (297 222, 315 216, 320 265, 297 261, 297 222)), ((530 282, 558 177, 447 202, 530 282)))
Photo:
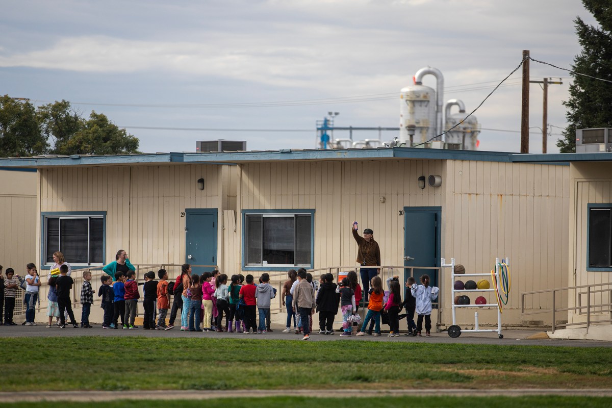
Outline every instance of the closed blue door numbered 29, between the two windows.
MULTIPOLYGON (((217 209, 185 209, 185 262, 217 265, 217 209)), ((212 267, 193 267, 192 273, 211 272, 212 267)))

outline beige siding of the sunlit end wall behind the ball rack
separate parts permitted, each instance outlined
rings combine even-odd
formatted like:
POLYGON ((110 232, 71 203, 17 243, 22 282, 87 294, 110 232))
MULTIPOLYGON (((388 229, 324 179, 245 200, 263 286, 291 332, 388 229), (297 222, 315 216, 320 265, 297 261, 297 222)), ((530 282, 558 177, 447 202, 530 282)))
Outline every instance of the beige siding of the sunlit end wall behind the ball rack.
MULTIPOLYGON (((467 273, 490 272, 495 258, 508 257, 512 287, 502 322, 550 324, 546 313, 521 317, 520 295, 567 286, 567 273, 561 271, 567 270, 569 166, 449 160, 446 179, 442 256, 448 262, 455 258, 467 273)), ((444 272, 449 306, 450 269, 444 272)), ((469 296, 473 304, 476 295, 469 296)), ((485 297, 494 303, 494 295, 485 297)), ((525 305, 529 310, 551 308, 552 295, 528 297, 525 305)), ((566 296, 557 299, 561 305, 567 305, 566 296)), ((494 308, 458 310, 457 317, 473 325, 474 311, 481 324, 496 322, 494 308)))

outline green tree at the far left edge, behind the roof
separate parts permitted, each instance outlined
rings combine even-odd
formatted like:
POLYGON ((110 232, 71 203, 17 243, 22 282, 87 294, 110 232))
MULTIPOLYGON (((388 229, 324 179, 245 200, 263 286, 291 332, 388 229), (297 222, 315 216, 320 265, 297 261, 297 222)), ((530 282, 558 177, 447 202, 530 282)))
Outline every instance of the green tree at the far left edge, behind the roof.
POLYGON ((48 147, 36 120, 34 105, 9 95, 0 97, 0 157, 45 154, 48 147))

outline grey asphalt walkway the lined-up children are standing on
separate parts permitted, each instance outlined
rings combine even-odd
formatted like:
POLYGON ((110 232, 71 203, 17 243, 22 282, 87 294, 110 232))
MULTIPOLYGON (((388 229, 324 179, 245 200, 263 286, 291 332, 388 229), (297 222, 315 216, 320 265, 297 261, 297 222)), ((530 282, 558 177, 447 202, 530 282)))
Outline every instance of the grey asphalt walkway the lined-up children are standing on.
MULTIPOLYGON (((185 338, 185 337, 200 337, 200 338, 256 338, 256 339, 282 339, 299 341, 302 335, 291 333, 282 333, 283 327, 274 327, 274 332, 266 333, 265 335, 256 334, 237 334, 237 333, 190 333, 181 332, 179 328, 173 330, 105 330, 100 325, 94 325, 94 328, 58 328, 56 326, 47 328, 43 324, 36 326, 0 326, 0 338, 22 337, 22 336, 144 336, 144 337, 170 337, 170 338, 185 338)), ((400 343, 445 343, 445 344, 502 344, 502 345, 523 345, 523 346, 571 346, 571 347, 612 347, 612 341, 597 341, 597 340, 570 340, 570 339, 528 339, 534 333, 541 330, 502 330, 504 338, 498 338, 497 333, 463 333, 457 338, 451 338, 446 332, 432 333, 431 337, 412 337, 400 335, 399 337, 387 337, 387 333, 382 336, 351 336, 340 337, 340 333, 335 335, 316 335, 310 336, 311 342, 316 341, 392 341, 400 343)), ((316 332, 315 332, 316 333, 316 332)))

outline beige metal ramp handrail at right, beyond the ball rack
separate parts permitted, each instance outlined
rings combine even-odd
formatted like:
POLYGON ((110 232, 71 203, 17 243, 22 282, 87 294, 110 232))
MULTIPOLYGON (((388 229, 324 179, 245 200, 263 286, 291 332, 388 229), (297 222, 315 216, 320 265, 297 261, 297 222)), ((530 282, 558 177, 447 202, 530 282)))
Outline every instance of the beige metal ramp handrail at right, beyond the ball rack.
MULTIPOLYGON (((600 323, 612 323, 612 289, 608 288, 608 289, 597 289, 597 290, 592 290, 592 287, 603 287, 603 286, 612 286, 612 282, 609 283, 592 283, 592 284, 588 284, 588 285, 578 285, 578 286, 568 286, 568 287, 556 287, 554 289, 543 289, 541 291, 531 291, 531 292, 524 292, 521 293, 521 314, 523 315, 529 315, 529 314, 540 314, 540 313, 550 313, 552 311, 553 313, 553 321, 552 321, 552 331, 554 333, 554 330, 557 327, 569 327, 569 326, 574 326, 574 325, 583 325, 584 322, 577 322, 577 323, 557 323, 556 322, 556 313, 559 311, 571 311, 571 310, 577 310, 578 314, 584 314, 586 315, 586 333, 589 333, 589 327, 591 326, 591 313, 606 313, 609 312, 610 313, 610 319, 599 319, 597 318, 593 324, 600 324, 600 323), (586 288, 586 291, 576 291, 576 289, 584 289, 586 288), (561 292, 561 291, 576 291, 575 295, 576 295, 576 304, 578 306, 574 306, 574 307, 565 307, 565 308, 557 308, 555 306, 555 302, 556 302, 556 294, 557 292, 561 292), (525 312, 525 296, 526 295, 534 295, 534 294, 543 294, 543 293, 551 293, 553 294, 553 308, 552 309, 541 309, 538 311, 532 311, 532 312, 525 312), (595 293, 603 293, 603 292, 608 292, 610 294, 609 296, 609 300, 608 303, 597 303, 592 305, 591 304, 591 295, 595 294, 595 293), (586 305, 582 304, 582 296, 586 295, 586 305), (604 307, 608 307, 607 309, 603 309, 604 307), (599 310, 595 310, 597 308, 600 308, 599 310), (586 311, 585 311, 586 309, 586 311)), ((599 316, 594 316, 594 317, 599 317, 599 316)))

